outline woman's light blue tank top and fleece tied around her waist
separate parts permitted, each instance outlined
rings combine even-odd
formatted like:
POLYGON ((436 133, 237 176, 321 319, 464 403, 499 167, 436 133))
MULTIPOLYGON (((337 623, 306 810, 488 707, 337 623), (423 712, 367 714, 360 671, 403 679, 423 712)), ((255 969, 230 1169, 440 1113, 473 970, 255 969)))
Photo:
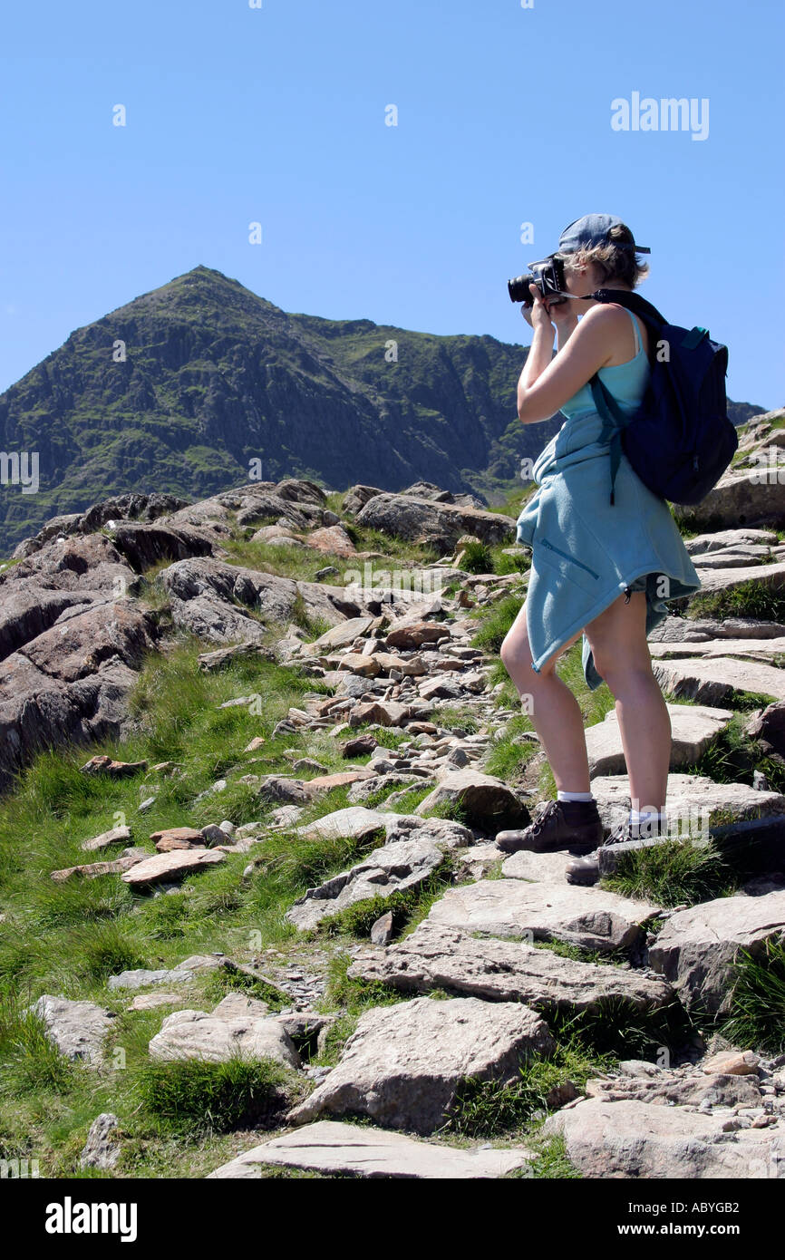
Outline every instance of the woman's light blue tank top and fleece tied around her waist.
MULTIPOLYGON (((631 415, 650 374, 635 328, 638 353, 600 378, 631 415)), ((532 548, 527 630, 533 669, 600 615, 636 578, 646 577, 646 635, 668 615, 665 600, 701 588, 664 499, 653 494, 621 455, 610 501, 610 438, 614 426, 599 415, 588 384, 562 407, 567 420, 534 462, 538 490, 518 517, 515 539, 532 548)), ((583 677, 602 683, 583 635, 583 677)))

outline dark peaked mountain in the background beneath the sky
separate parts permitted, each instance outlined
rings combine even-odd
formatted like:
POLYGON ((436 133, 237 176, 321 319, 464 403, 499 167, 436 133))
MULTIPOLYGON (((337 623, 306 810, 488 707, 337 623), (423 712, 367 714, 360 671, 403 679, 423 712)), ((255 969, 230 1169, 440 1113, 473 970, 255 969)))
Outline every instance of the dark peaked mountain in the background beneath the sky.
POLYGON ((265 479, 335 490, 509 489, 559 423, 519 422, 524 360, 491 336, 290 315, 194 267, 77 329, 0 396, 0 449, 37 452, 39 481, 3 486, 0 551, 108 495, 229 489, 255 460, 265 479))

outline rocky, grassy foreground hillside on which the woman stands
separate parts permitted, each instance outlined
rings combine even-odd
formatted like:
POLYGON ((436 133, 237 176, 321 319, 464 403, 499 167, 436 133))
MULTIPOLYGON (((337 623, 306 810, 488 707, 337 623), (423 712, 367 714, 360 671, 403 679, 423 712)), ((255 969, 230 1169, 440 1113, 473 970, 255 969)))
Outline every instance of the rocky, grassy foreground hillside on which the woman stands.
MULTIPOLYGON (((687 533, 703 590, 651 638, 687 830, 604 852, 590 887, 496 844, 553 788, 498 660, 513 515, 284 479, 24 541, 0 573, 4 1153, 782 1176, 785 499, 750 467, 785 478, 784 421, 742 433, 687 533)), ((620 731, 606 688, 577 694, 607 834, 620 731)))

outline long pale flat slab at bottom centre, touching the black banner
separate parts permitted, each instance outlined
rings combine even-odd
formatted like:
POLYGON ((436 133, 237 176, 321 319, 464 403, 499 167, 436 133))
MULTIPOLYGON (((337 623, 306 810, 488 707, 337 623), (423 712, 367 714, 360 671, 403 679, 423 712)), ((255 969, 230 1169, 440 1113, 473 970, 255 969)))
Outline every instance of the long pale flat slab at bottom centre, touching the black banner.
POLYGON ((523 1147, 456 1147, 407 1138, 370 1125, 344 1124, 340 1120, 316 1120, 294 1133, 262 1143, 231 1163, 209 1173, 209 1178, 262 1176, 261 1166, 281 1164, 286 1168, 307 1168, 323 1173, 349 1173, 355 1177, 415 1177, 421 1179, 501 1177, 514 1168, 523 1168, 532 1159, 523 1147))

